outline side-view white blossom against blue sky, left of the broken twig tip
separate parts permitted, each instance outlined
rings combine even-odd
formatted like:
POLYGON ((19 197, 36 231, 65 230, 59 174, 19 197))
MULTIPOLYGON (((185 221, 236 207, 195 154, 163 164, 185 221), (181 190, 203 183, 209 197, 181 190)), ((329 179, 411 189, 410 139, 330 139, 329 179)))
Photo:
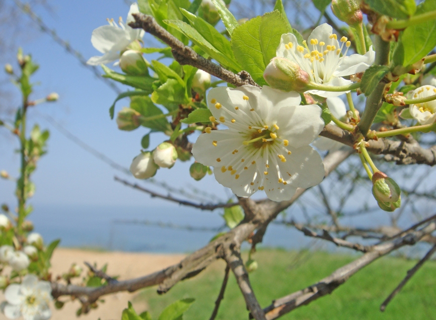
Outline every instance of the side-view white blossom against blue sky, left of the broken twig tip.
POLYGON ((138 4, 130 6, 126 23, 120 17, 118 25, 114 19, 108 19, 109 25, 103 25, 92 31, 91 43, 103 56, 91 57, 86 63, 91 66, 106 64, 120 58, 121 53, 135 40, 141 40, 144 30, 133 29, 128 24, 135 21, 132 13, 139 13, 138 4))

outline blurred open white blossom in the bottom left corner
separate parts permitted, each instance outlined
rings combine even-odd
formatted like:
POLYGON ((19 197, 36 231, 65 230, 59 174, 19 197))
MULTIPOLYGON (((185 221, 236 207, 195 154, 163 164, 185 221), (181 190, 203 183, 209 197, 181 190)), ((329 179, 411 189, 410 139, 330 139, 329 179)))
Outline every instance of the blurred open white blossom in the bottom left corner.
POLYGON ((33 274, 23 278, 21 284, 10 284, 4 291, 6 305, 3 313, 8 319, 48 320, 52 316, 50 282, 38 281, 33 274))

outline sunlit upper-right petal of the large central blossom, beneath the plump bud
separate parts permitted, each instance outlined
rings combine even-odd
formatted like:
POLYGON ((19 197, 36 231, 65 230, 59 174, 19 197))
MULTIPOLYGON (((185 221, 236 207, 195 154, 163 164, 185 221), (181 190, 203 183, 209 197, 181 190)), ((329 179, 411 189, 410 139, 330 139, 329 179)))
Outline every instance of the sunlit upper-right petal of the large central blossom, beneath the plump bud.
POLYGON ((307 146, 324 128, 321 108, 315 104, 282 107, 277 125, 278 136, 289 141, 294 148, 307 146))

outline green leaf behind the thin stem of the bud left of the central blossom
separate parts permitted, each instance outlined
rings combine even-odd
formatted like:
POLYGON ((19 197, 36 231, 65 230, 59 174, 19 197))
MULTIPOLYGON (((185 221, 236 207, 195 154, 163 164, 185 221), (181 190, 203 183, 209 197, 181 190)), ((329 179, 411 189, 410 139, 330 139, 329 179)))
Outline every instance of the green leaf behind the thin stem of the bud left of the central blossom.
MULTIPOLYGON (((130 107, 138 111, 144 117, 152 117, 162 115, 163 112, 154 105, 149 96, 135 96, 132 97, 130 107)), ((169 123, 165 118, 154 119, 149 121, 142 121, 141 125, 144 127, 157 130, 166 131, 169 128, 169 123)))

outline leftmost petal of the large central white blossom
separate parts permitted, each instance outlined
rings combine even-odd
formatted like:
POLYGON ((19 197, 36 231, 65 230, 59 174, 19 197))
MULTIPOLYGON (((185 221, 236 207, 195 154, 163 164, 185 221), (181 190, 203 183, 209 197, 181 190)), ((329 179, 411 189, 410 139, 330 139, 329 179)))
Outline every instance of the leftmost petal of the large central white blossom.
MULTIPOLYGON (((192 147, 192 155, 197 162, 204 165, 227 166, 228 164, 223 159, 217 161, 218 158, 224 157, 226 154, 243 146, 243 137, 231 130, 214 130, 211 133, 203 133, 198 138, 192 147), (230 140, 228 140, 230 139, 230 140), (214 146, 213 142, 217 142, 214 146)), ((233 155, 232 155, 233 156, 233 155)))

